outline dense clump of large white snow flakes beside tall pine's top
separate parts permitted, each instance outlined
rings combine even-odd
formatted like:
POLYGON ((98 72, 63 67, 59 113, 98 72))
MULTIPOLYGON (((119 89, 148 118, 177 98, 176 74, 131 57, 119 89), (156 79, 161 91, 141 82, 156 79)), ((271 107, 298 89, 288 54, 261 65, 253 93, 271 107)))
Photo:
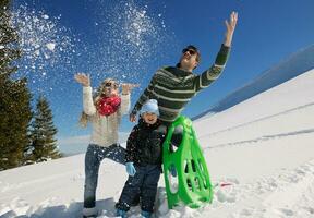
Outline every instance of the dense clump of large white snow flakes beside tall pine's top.
POLYGON ((45 66, 46 71, 61 63, 64 65, 63 61, 69 57, 63 56, 60 49, 55 50, 56 45, 72 53, 75 38, 60 25, 60 16, 50 17, 43 10, 32 10, 27 4, 20 4, 12 12, 11 25, 16 28, 20 37, 19 48, 23 51, 21 65, 32 64, 34 70, 45 66))

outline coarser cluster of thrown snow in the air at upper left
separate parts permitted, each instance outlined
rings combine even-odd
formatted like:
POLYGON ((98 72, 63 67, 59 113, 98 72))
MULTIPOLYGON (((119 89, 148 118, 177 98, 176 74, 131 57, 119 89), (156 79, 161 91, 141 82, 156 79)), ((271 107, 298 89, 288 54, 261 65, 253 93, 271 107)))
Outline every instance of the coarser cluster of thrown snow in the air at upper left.
POLYGON ((22 51, 22 59, 16 62, 19 73, 32 81, 36 92, 49 92, 48 82, 58 84, 63 80, 52 75, 51 69, 61 71, 71 65, 75 37, 60 25, 60 17, 27 4, 13 9, 11 25, 17 32, 22 51))

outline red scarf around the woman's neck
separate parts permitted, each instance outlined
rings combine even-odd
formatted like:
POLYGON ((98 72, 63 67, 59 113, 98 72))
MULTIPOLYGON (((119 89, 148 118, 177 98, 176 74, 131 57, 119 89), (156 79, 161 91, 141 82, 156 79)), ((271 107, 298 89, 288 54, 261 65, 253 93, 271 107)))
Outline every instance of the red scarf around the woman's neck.
POLYGON ((97 110, 100 116, 110 116, 114 113, 121 105, 121 98, 119 96, 102 97, 97 102, 97 110))

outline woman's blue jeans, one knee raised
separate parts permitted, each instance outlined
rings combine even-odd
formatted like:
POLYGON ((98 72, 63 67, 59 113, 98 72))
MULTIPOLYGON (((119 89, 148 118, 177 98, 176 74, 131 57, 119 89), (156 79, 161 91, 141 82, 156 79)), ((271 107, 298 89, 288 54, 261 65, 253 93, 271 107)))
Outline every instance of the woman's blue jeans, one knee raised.
POLYGON ((89 144, 85 155, 85 185, 84 185, 84 207, 96 206, 96 189, 98 182, 98 171, 101 160, 109 158, 116 162, 125 165, 125 148, 113 144, 109 147, 101 147, 89 144))

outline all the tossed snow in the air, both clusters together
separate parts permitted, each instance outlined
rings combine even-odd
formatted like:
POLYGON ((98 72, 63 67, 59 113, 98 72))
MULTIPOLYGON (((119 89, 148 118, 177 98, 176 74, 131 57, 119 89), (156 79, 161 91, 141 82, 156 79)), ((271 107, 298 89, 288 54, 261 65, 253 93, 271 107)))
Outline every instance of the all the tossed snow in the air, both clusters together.
MULTIPOLYGON (((129 80, 141 83, 145 80, 143 72, 150 71, 150 63, 168 57, 162 45, 172 46, 174 34, 165 28, 164 17, 152 13, 148 5, 141 7, 133 0, 110 4, 96 1, 93 8, 90 17, 95 28, 89 34, 95 39, 87 40, 84 29, 64 25, 68 17, 64 14, 46 11, 34 1, 13 5, 10 22, 23 52, 16 62, 17 76, 34 81, 32 90, 53 95, 53 98, 64 96, 67 93, 60 87, 68 87, 73 72, 77 71, 87 71, 97 81, 104 76, 117 77, 123 72, 129 80)), ((88 7, 85 10, 88 11, 88 7)), ((164 9, 154 8, 154 11, 161 14, 164 9)))

